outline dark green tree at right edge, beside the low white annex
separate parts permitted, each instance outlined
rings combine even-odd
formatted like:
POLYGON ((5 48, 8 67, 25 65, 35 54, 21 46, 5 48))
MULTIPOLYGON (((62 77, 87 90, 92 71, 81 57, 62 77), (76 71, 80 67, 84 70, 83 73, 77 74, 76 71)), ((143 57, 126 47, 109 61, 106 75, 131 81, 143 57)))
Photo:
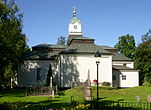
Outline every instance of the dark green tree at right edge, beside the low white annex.
POLYGON ((135 65, 140 70, 140 83, 151 83, 151 39, 136 48, 135 65))

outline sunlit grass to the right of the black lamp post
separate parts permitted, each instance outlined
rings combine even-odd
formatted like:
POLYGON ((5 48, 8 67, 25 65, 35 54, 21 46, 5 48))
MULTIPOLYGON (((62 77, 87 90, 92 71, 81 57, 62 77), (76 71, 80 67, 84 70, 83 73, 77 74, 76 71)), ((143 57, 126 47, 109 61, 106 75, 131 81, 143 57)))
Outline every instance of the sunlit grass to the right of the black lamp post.
POLYGON ((127 89, 100 89, 99 94, 102 100, 136 102, 136 96, 140 97, 141 102, 147 102, 147 96, 151 94, 151 87, 133 87, 127 89))

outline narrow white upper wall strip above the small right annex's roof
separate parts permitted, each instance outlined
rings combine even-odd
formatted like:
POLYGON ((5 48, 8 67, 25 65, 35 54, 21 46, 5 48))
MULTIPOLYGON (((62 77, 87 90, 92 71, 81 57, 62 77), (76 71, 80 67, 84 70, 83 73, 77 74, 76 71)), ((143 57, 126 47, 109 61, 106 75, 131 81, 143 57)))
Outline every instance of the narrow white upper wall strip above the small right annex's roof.
POLYGON ((133 61, 113 61, 113 65, 120 65, 126 64, 129 68, 134 68, 134 62, 133 61))

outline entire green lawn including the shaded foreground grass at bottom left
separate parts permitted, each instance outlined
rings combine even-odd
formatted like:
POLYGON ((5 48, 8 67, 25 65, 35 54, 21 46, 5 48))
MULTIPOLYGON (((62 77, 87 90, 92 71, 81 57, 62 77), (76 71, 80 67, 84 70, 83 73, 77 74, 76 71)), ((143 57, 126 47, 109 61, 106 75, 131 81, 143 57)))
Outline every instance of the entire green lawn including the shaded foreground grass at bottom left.
MULTIPOLYGON (((71 97, 77 102, 84 101, 84 88, 76 87, 68 89, 66 91, 59 92, 60 95, 55 96, 54 99, 49 96, 26 96, 24 89, 12 89, 0 91, 0 109, 5 105, 5 109, 8 110, 37 110, 53 108, 55 110, 67 110, 72 109, 71 97), (6 102, 4 104, 4 102, 6 102), (66 103, 69 102, 69 103, 66 103), (2 104, 3 103, 3 104, 2 104), (13 104, 12 104, 13 103, 13 104), (44 108, 42 108, 44 107, 44 108), (62 107, 69 107, 62 109, 62 107), (56 109, 57 108, 57 109, 56 109)), ((102 102, 137 102, 136 96, 140 96, 141 102, 147 102, 147 95, 151 94, 151 87, 133 87, 127 89, 116 89, 113 87, 99 87, 99 98, 102 102)), ((92 87, 92 96, 96 98, 96 87, 92 87)), ((90 104, 79 104, 76 107, 90 107, 90 104)), ((4 109, 2 108, 2 109, 4 109)), ((82 108, 76 109, 82 110, 82 108)))

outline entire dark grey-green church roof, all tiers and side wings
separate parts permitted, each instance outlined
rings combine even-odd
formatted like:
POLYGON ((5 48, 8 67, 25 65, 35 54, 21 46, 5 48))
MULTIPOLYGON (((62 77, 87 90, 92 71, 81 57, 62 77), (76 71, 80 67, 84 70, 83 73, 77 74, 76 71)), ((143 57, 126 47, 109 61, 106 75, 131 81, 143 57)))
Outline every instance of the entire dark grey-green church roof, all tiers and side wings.
MULTIPOLYGON (((77 37, 74 39, 90 39, 87 37, 77 37)), ((60 51, 42 51, 42 50, 34 50, 30 53, 26 54, 24 56, 25 59, 51 59, 54 60, 54 58, 59 53, 89 53, 89 54, 95 54, 97 51, 99 51, 102 54, 112 54, 113 55, 113 61, 132 61, 130 58, 126 57, 123 54, 119 54, 117 52, 111 53, 106 51, 105 49, 114 49, 109 46, 97 46, 93 43, 72 43, 69 46, 66 45, 48 45, 48 44, 40 44, 36 45, 33 48, 60 48, 60 51)))

